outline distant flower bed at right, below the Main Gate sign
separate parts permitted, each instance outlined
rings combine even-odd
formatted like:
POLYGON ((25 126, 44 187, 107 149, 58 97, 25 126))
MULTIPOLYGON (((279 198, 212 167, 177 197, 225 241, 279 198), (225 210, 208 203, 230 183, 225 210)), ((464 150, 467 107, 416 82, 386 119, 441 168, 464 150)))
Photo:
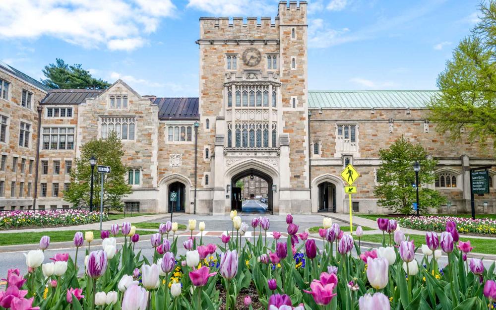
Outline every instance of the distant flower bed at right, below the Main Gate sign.
POLYGON ((447 222, 456 223, 458 232, 462 234, 496 234, 496 220, 489 218, 472 220, 471 218, 454 216, 409 216, 398 220, 400 226, 403 227, 437 232, 444 230, 447 222))

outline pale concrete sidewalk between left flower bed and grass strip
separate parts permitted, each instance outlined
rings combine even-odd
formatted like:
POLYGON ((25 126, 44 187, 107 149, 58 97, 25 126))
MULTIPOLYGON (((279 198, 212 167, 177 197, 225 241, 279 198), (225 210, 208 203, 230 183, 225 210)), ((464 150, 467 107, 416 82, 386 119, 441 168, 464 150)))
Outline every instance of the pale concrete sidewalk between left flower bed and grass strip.
MULTIPOLYGON (((170 213, 169 213, 170 216, 170 213)), ((126 217, 119 220, 106 221, 102 223, 102 229, 110 229, 113 224, 119 224, 121 227, 122 223, 130 222, 130 223, 139 223, 139 222, 154 222, 158 219, 162 219, 167 217, 167 213, 161 214, 152 214, 152 215, 141 215, 134 217, 126 217)), ((40 227, 40 228, 29 228, 29 229, 11 229, 11 230, 0 230, 0 234, 10 234, 10 233, 31 233, 31 232, 46 232, 51 230, 77 230, 77 231, 87 231, 87 230, 99 230, 100 222, 77 225, 77 226, 62 226, 62 227, 40 227)), ((141 230, 141 229, 140 229, 141 230)))

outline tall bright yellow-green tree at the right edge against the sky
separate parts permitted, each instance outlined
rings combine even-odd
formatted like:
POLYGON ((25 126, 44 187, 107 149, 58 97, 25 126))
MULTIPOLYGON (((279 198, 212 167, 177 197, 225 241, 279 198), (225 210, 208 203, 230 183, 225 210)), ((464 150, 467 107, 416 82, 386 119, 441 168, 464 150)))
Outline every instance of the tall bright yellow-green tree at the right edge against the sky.
POLYGON ((496 1, 481 3, 480 11, 480 22, 437 77, 440 94, 429 104, 430 119, 450 140, 465 135, 496 149, 496 1))

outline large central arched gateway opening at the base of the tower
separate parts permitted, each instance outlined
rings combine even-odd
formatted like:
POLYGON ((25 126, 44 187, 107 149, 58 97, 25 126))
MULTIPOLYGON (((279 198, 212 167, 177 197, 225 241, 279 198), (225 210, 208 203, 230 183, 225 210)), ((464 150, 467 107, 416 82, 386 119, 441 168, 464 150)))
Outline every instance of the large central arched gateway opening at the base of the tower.
POLYGON ((272 184, 273 180, 268 174, 254 168, 244 170, 234 175, 231 178, 231 210, 237 210, 238 212, 244 211, 243 204, 245 204, 245 211, 270 212, 272 214, 274 209, 272 184), (250 189, 247 191, 247 188, 237 186, 237 182, 240 180, 243 181, 247 177, 249 179, 248 183, 266 183, 266 186, 258 186, 258 188, 264 189, 263 192, 250 192, 250 189), (264 202, 265 199, 266 202, 264 202), (248 206, 248 204, 250 204, 250 206, 248 206), (251 205, 253 207, 251 207, 251 205), (256 207, 257 205, 259 207, 256 207), (263 209, 264 205, 267 205, 266 209, 263 209))

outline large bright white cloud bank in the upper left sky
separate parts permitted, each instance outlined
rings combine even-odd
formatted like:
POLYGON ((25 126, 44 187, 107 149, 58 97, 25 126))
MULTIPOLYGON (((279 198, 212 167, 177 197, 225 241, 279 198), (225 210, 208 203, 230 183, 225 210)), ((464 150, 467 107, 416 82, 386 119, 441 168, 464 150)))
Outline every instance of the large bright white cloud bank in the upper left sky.
POLYGON ((1 0, 0 38, 51 36, 84 48, 130 51, 174 11, 171 0, 1 0))

